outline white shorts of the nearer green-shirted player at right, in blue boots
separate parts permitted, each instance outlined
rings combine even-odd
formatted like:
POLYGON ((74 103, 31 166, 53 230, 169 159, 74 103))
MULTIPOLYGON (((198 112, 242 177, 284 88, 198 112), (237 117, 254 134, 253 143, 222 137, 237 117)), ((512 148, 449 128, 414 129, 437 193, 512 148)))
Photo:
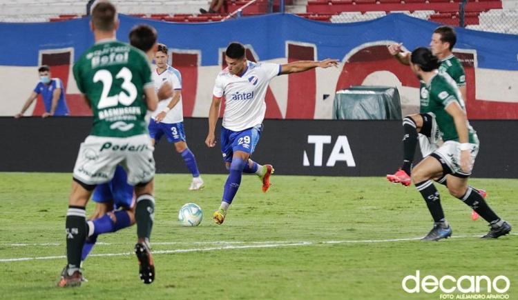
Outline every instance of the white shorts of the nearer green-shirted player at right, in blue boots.
MULTIPOLYGON (((479 145, 476 143, 470 143, 470 153, 470 170, 472 170, 477 154, 479 154, 479 145)), ((431 156, 439 160, 443 166, 444 174, 452 174, 456 177, 462 178, 469 177, 471 175, 471 171, 463 172, 461 170, 461 143, 458 141, 445 141, 439 149, 435 150, 431 154, 431 156)))

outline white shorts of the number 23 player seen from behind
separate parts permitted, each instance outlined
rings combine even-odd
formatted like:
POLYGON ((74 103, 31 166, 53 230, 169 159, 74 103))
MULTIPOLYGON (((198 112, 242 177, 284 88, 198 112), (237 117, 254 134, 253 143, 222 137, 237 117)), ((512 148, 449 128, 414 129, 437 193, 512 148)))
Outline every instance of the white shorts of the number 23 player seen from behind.
POLYGON ((155 177, 153 146, 147 134, 133 137, 86 137, 77 154, 74 178, 88 185, 106 183, 121 164, 128 172, 128 183, 148 183, 155 177))

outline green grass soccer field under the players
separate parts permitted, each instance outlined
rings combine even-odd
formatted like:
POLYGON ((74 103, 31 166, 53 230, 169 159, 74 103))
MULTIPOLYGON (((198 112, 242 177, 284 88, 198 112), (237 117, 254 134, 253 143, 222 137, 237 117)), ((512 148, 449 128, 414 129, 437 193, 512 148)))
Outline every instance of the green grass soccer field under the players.
MULTIPOLYGON (((440 299, 441 292, 403 291, 402 279, 416 270, 421 278, 504 275, 508 299, 518 299, 518 237, 474 237, 488 231, 486 222, 472 221, 470 209, 444 188, 454 238, 427 243, 415 239, 428 233, 432 219, 414 188, 384 178, 277 175, 267 194, 255 177, 245 176, 222 226, 211 214, 226 176, 205 175, 207 188, 189 192, 188 175, 157 175, 156 281, 145 286, 138 279, 134 227, 99 237, 84 266, 89 282, 58 289, 70 179, 0 173, 2 299, 440 299), (186 202, 204 210, 196 228, 178 224, 186 202), (32 259, 9 260, 19 258, 32 259)), ((472 184, 488 190, 492 208, 518 224, 518 180, 472 184)))

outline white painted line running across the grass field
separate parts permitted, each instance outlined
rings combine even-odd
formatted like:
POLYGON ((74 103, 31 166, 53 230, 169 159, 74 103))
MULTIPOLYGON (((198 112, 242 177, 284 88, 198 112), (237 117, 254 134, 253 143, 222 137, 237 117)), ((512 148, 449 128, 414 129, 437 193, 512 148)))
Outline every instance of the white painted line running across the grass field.
MULTIPOLYGON (((511 233, 511 235, 517 235, 517 233, 511 233)), ((461 235, 457 237, 452 237, 456 239, 463 239, 468 237, 480 237, 480 235, 461 235)), ((391 243, 398 241, 416 241, 421 239, 421 237, 411 237, 411 238, 402 238, 402 239, 365 239, 365 240, 344 240, 344 241, 231 241, 231 242, 196 242, 196 243, 251 243, 251 245, 242 245, 242 246, 219 246, 219 247, 209 247, 209 248, 187 248, 187 249, 173 249, 173 250, 155 250, 153 254, 173 254, 173 253, 184 253, 184 252, 202 252, 202 251, 215 251, 215 250, 235 250, 235 249, 250 249, 250 248, 278 248, 278 247, 296 247, 296 246, 310 246, 310 245, 318 245, 318 244, 337 244, 337 243, 391 243)), ((54 243, 49 243, 54 246, 54 243)), ((153 245, 166 244, 170 245, 172 243, 153 243, 153 245)), ((33 244, 33 245, 42 245, 42 244, 33 244)), ((48 245, 50 246, 50 245, 48 245)), ((127 256, 132 255, 133 252, 121 252, 121 253, 100 253, 100 254, 90 254, 90 257, 119 257, 119 256, 127 256)), ((65 259, 65 255, 59 256, 50 256, 50 257, 19 257, 19 258, 11 258, 11 259, 0 259, 0 263, 8 263, 12 261, 35 261, 35 260, 48 260, 48 259, 65 259)))

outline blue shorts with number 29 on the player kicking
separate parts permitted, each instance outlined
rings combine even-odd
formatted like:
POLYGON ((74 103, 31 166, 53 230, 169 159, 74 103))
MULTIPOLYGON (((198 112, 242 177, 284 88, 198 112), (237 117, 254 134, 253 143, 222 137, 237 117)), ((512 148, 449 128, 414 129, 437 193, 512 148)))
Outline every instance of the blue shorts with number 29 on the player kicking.
POLYGON ((261 137, 262 125, 242 131, 232 131, 221 128, 221 152, 225 162, 232 161, 233 152, 242 151, 252 154, 261 137))

